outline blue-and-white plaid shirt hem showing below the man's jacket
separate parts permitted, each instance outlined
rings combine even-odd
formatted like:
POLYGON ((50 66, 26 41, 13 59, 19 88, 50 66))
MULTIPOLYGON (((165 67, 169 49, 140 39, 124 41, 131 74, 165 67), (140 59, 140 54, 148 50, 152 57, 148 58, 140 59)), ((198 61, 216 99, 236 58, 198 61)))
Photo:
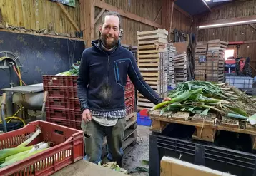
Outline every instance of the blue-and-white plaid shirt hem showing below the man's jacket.
POLYGON ((108 111, 108 112, 91 110, 91 113, 92 113, 92 116, 96 118, 109 118, 109 119, 124 118, 126 116, 126 109, 114 110, 114 111, 108 111))

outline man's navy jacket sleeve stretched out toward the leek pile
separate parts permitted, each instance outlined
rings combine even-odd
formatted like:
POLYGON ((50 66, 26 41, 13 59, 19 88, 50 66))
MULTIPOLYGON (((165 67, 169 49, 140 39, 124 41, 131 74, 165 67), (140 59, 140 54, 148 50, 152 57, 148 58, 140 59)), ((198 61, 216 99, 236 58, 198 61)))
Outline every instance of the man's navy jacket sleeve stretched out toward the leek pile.
POLYGON ((128 68, 128 76, 134 84, 135 88, 139 90, 145 98, 150 100, 154 105, 161 103, 164 98, 160 98, 159 95, 144 81, 139 68, 135 61, 134 56, 131 56, 130 64, 128 68))

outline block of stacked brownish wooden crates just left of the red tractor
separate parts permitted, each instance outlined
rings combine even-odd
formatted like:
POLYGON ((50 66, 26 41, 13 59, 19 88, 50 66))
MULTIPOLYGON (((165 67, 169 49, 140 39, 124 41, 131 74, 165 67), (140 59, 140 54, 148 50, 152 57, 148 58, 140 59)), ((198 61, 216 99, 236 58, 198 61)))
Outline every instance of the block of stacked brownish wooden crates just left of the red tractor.
POLYGON ((197 42, 195 50, 195 79, 222 83, 224 81, 227 42, 211 40, 197 42))

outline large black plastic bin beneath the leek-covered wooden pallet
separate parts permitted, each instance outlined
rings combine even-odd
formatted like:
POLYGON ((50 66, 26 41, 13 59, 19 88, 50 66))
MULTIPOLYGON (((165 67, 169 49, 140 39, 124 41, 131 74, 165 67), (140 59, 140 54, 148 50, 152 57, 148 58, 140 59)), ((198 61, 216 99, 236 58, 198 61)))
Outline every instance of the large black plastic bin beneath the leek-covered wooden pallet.
POLYGON ((163 156, 178 158, 195 165, 204 165, 221 172, 229 172, 232 175, 256 176, 256 155, 218 147, 214 143, 191 140, 190 135, 194 131, 191 126, 179 125, 178 129, 177 131, 170 127, 167 134, 175 137, 177 135, 179 138, 169 137, 164 135, 164 132, 149 135, 150 176, 160 175, 160 160, 163 156))

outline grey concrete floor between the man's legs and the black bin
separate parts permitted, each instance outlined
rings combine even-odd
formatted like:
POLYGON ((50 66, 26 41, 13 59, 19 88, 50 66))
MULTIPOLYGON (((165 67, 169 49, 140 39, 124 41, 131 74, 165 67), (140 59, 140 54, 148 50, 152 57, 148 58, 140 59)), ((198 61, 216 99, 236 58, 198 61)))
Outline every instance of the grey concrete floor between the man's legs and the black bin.
MULTIPOLYGON (((151 133, 149 127, 137 126, 137 144, 124 157, 123 167, 125 170, 134 170, 136 167, 149 168, 148 165, 142 164, 142 160, 149 161, 149 134, 151 133)), ((148 176, 148 172, 134 172, 132 176, 148 176)))

